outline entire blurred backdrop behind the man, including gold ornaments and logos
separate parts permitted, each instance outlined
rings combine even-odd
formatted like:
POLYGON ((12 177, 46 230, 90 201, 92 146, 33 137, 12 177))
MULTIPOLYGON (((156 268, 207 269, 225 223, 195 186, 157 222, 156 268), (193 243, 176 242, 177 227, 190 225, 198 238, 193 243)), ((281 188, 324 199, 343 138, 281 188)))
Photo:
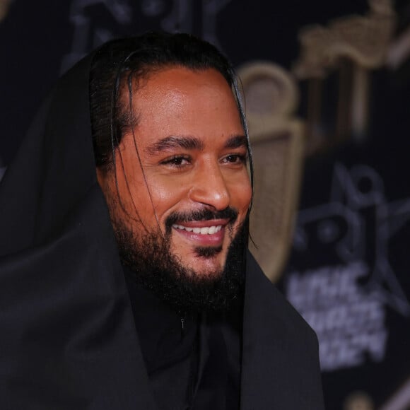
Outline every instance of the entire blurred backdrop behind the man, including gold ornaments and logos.
POLYGON ((58 76, 145 30, 238 66, 252 252, 317 332, 327 409, 410 409, 409 1, 0 0, 0 178, 58 76))

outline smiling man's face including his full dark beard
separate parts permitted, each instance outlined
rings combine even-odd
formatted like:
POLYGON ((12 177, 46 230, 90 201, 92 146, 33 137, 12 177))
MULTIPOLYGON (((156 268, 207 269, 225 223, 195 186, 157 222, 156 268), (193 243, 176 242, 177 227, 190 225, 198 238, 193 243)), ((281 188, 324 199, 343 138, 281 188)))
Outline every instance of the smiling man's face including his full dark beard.
POLYGON ((122 125, 117 166, 98 168, 98 181, 136 279, 179 310, 215 309, 240 291, 240 266, 224 269, 245 243, 247 137, 223 74, 204 61, 172 64, 134 76, 128 101, 122 90, 119 115, 129 103, 133 124, 122 125))

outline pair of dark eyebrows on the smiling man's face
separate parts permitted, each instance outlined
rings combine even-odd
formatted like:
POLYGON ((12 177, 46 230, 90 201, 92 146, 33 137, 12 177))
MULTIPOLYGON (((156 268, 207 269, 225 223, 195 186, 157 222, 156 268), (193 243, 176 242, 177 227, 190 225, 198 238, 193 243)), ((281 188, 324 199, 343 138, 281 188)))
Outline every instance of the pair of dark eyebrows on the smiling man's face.
MULTIPOLYGON (((241 146, 247 146, 247 139, 244 135, 231 136, 225 143, 225 148, 240 148, 241 146)), ((155 155, 162 151, 172 150, 173 148, 197 149, 201 151, 204 149, 204 142, 194 136, 165 136, 165 138, 147 146, 145 151, 155 155)))

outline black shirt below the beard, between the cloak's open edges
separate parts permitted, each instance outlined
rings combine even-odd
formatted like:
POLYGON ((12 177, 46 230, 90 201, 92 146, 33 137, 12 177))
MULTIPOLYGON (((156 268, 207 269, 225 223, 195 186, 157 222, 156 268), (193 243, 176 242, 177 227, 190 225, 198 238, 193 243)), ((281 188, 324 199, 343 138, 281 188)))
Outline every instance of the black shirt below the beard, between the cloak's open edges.
POLYGON ((182 316, 141 288, 127 268, 124 274, 158 409, 239 409, 240 306, 182 316))

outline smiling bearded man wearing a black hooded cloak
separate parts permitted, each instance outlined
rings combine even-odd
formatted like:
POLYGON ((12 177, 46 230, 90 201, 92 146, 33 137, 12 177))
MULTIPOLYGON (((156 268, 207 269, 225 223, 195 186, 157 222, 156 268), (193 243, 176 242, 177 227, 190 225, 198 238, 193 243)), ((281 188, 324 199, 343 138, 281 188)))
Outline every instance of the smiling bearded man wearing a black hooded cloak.
POLYGON ((61 78, 0 188, 1 409, 323 408, 317 339, 246 251, 249 154, 192 36, 61 78))

